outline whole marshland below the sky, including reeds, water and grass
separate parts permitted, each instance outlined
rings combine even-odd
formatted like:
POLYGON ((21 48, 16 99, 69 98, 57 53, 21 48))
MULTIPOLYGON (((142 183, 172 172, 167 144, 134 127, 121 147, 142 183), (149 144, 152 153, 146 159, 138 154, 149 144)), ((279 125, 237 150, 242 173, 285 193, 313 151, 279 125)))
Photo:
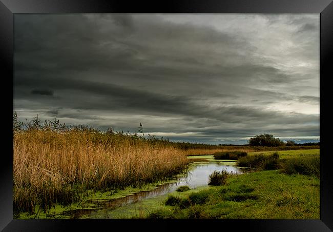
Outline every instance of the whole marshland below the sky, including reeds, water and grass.
POLYGON ((319 218, 319 145, 175 143, 140 132, 23 123, 15 113, 14 218, 319 218))

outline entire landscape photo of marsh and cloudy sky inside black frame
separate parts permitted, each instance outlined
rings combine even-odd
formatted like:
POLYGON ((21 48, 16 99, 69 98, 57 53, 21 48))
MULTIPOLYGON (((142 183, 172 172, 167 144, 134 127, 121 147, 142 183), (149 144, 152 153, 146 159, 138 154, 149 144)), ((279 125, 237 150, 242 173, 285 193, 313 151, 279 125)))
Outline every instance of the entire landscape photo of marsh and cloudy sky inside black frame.
POLYGON ((320 219, 320 14, 13 26, 14 219, 320 219))

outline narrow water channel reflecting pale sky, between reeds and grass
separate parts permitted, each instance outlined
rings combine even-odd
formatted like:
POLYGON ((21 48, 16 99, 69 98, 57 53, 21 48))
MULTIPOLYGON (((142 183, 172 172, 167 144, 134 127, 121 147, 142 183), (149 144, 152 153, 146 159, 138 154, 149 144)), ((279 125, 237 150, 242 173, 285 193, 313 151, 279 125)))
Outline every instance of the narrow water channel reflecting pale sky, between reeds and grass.
POLYGON ((214 160, 213 156, 188 157, 188 159, 191 160, 191 164, 187 175, 177 177, 173 183, 161 184, 153 190, 140 191, 127 197, 98 202, 95 209, 77 209, 67 211, 65 214, 74 219, 131 218, 138 216, 140 210, 151 209, 152 205, 162 202, 179 186, 187 185, 191 189, 207 186, 209 175, 214 170, 242 173, 242 169, 235 166, 235 161, 214 160))

